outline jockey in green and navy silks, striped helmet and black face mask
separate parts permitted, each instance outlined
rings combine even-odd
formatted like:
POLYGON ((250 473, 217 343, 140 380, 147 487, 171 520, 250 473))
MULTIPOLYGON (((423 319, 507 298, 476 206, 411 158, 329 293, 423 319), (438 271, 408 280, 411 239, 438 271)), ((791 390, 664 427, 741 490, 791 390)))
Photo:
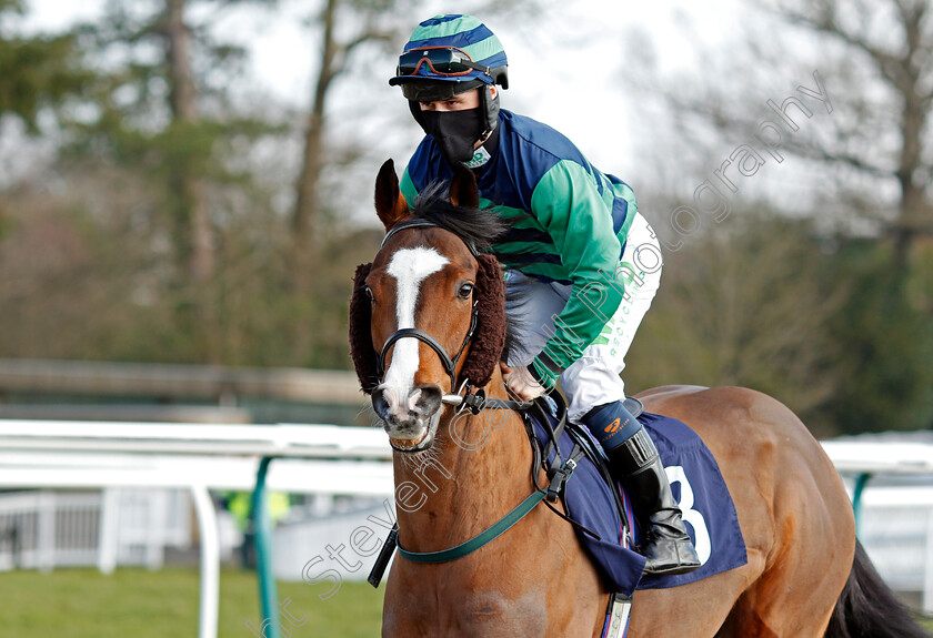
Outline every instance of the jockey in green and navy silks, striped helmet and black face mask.
POLYGON ((592 432, 634 499, 645 573, 691 571, 700 560, 658 450, 622 404, 623 358, 661 280, 658 240, 628 184, 550 126, 500 109, 506 64, 475 18, 419 24, 389 81, 427 133, 402 194, 413 202, 458 164, 473 171, 481 202, 510 222, 493 251, 505 267, 506 314, 519 320, 501 364, 509 389, 528 401, 560 379, 568 417, 592 432))

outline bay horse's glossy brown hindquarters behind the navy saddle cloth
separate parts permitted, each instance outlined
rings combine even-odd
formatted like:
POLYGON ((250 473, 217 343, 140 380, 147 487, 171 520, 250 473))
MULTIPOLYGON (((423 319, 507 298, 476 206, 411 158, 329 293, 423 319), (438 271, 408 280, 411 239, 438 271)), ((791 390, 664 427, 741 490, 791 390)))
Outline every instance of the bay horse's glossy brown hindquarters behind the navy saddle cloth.
MULTIPOLYGON (((849 497, 820 444, 786 406, 752 391, 668 387, 644 398, 652 412, 693 426, 713 452, 749 551, 744 584, 690 604, 701 610, 718 596, 734 604, 718 636, 822 636, 849 576, 855 535, 849 497)), ((688 587, 675 589, 678 604, 688 587)), ((682 636, 712 635, 682 626, 682 636)))

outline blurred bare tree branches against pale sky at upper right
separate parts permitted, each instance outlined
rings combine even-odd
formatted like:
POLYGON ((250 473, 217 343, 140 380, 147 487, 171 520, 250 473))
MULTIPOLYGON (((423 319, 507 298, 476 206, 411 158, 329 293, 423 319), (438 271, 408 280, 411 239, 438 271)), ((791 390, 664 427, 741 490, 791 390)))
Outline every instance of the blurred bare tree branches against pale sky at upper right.
POLYGON ((714 131, 701 141, 705 148, 710 138, 726 135, 781 138, 778 161, 796 156, 820 174, 814 195, 820 213, 835 206, 850 221, 871 222, 893 239, 903 265, 915 240, 933 235, 929 2, 762 0, 760 9, 745 40, 728 47, 728 57, 701 52, 701 81, 668 84, 665 102, 682 124, 681 136, 702 122, 714 131), (832 117, 819 131, 799 133, 800 120, 813 111, 801 107, 802 95, 791 101, 778 95, 794 87, 820 91, 820 82, 832 117), (764 119, 780 129, 762 131, 764 119))

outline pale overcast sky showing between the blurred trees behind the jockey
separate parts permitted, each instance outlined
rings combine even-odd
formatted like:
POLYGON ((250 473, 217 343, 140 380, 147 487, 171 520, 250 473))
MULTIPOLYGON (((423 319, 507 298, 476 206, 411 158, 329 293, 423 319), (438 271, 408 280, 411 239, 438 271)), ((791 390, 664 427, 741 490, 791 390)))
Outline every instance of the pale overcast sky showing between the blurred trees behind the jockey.
MULTIPOLYGON (((29 2, 32 10, 29 28, 53 30, 79 19, 96 19, 104 0, 29 2)), ((438 13, 470 12, 476 3, 475 0, 460 0, 457 8, 451 9, 449 3, 425 1, 420 3, 410 22, 414 28, 421 20, 438 13)), ((695 162, 686 161, 685 154, 692 149, 686 141, 675 139, 671 143, 671 123, 663 118, 645 115, 644 110, 635 108, 652 99, 646 94, 652 88, 632 85, 628 81, 629 69, 651 59, 656 69, 650 74, 650 81, 664 78, 670 82, 675 72, 686 71, 705 82, 708 70, 701 62, 702 52, 729 52, 741 37, 741 27, 752 20, 752 12, 740 0, 705 0, 702 3, 689 0, 574 0, 552 4, 553 9, 530 20, 478 16, 499 36, 509 57, 510 89, 503 93, 503 108, 563 132, 596 166, 630 182, 636 193, 642 184, 652 181, 655 192, 661 188, 644 162, 644 158, 658 162, 660 154, 660 161, 665 163, 663 170, 675 176, 674 188, 689 196, 706 179, 704 173, 719 166, 721 159, 701 160, 702 171, 695 168, 695 162), (655 144, 663 151, 659 153, 653 149, 655 144), (671 155, 671 161, 664 161, 664 153, 671 155), (691 170, 696 174, 691 174, 691 170)), ((208 7, 214 10, 210 3, 208 7)), ((251 52, 252 75, 257 79, 254 93, 260 97, 268 93, 297 111, 309 105, 319 44, 304 21, 318 7, 317 0, 280 0, 274 10, 248 8, 222 12, 217 28, 225 38, 247 44, 251 52)), ((768 28, 765 38, 770 37, 768 28)), ((403 43, 404 40, 398 42, 399 51, 403 43)), ((401 170, 420 139, 420 131, 412 123, 399 89, 388 85, 395 61, 394 55, 367 61, 373 64, 371 81, 363 85, 354 80, 334 87, 329 134, 355 139, 370 151, 369 156, 353 169, 357 171, 354 179, 370 180, 385 156, 392 156, 401 170), (374 112, 388 114, 388 122, 399 125, 387 126, 387 120, 373 117, 374 112)), ((631 74, 639 70, 632 69, 631 74)), ((644 81, 645 73, 641 75, 644 81)), ((793 80, 806 83, 810 79, 793 80)), ((710 77, 709 81, 734 83, 736 90, 742 87, 741 78, 710 77)), ((791 94, 795 85, 789 84, 786 94, 791 94)), ((780 102, 783 95, 762 95, 762 105, 768 98, 780 102)), ((742 140, 721 142, 731 149, 742 140)), ((723 151, 728 153, 729 149, 723 151)), ((297 161, 297 150, 287 153, 279 150, 278 158, 290 156, 297 161)), ((762 171, 764 176, 756 176, 741 195, 751 198, 755 190, 768 189, 787 196, 787 192, 800 189, 801 184, 800 174, 794 172, 792 164, 784 162, 780 169, 776 164, 769 165, 762 171)), ((651 207, 651 202, 648 203, 651 207)), ((367 220, 369 213, 365 210, 359 214, 367 220)), ((663 211, 654 211, 654 214, 666 216, 663 211)))

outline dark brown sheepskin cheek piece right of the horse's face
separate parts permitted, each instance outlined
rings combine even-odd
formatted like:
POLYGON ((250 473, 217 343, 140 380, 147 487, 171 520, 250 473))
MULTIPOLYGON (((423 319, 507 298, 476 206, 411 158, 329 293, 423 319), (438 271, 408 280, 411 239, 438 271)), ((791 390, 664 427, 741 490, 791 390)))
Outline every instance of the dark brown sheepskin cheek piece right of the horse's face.
POLYGON ((482 387, 490 382, 505 347, 505 283, 499 261, 493 255, 480 255, 478 261, 480 267, 474 290, 478 300, 476 332, 470 342, 460 378, 469 378, 474 387, 482 387))

